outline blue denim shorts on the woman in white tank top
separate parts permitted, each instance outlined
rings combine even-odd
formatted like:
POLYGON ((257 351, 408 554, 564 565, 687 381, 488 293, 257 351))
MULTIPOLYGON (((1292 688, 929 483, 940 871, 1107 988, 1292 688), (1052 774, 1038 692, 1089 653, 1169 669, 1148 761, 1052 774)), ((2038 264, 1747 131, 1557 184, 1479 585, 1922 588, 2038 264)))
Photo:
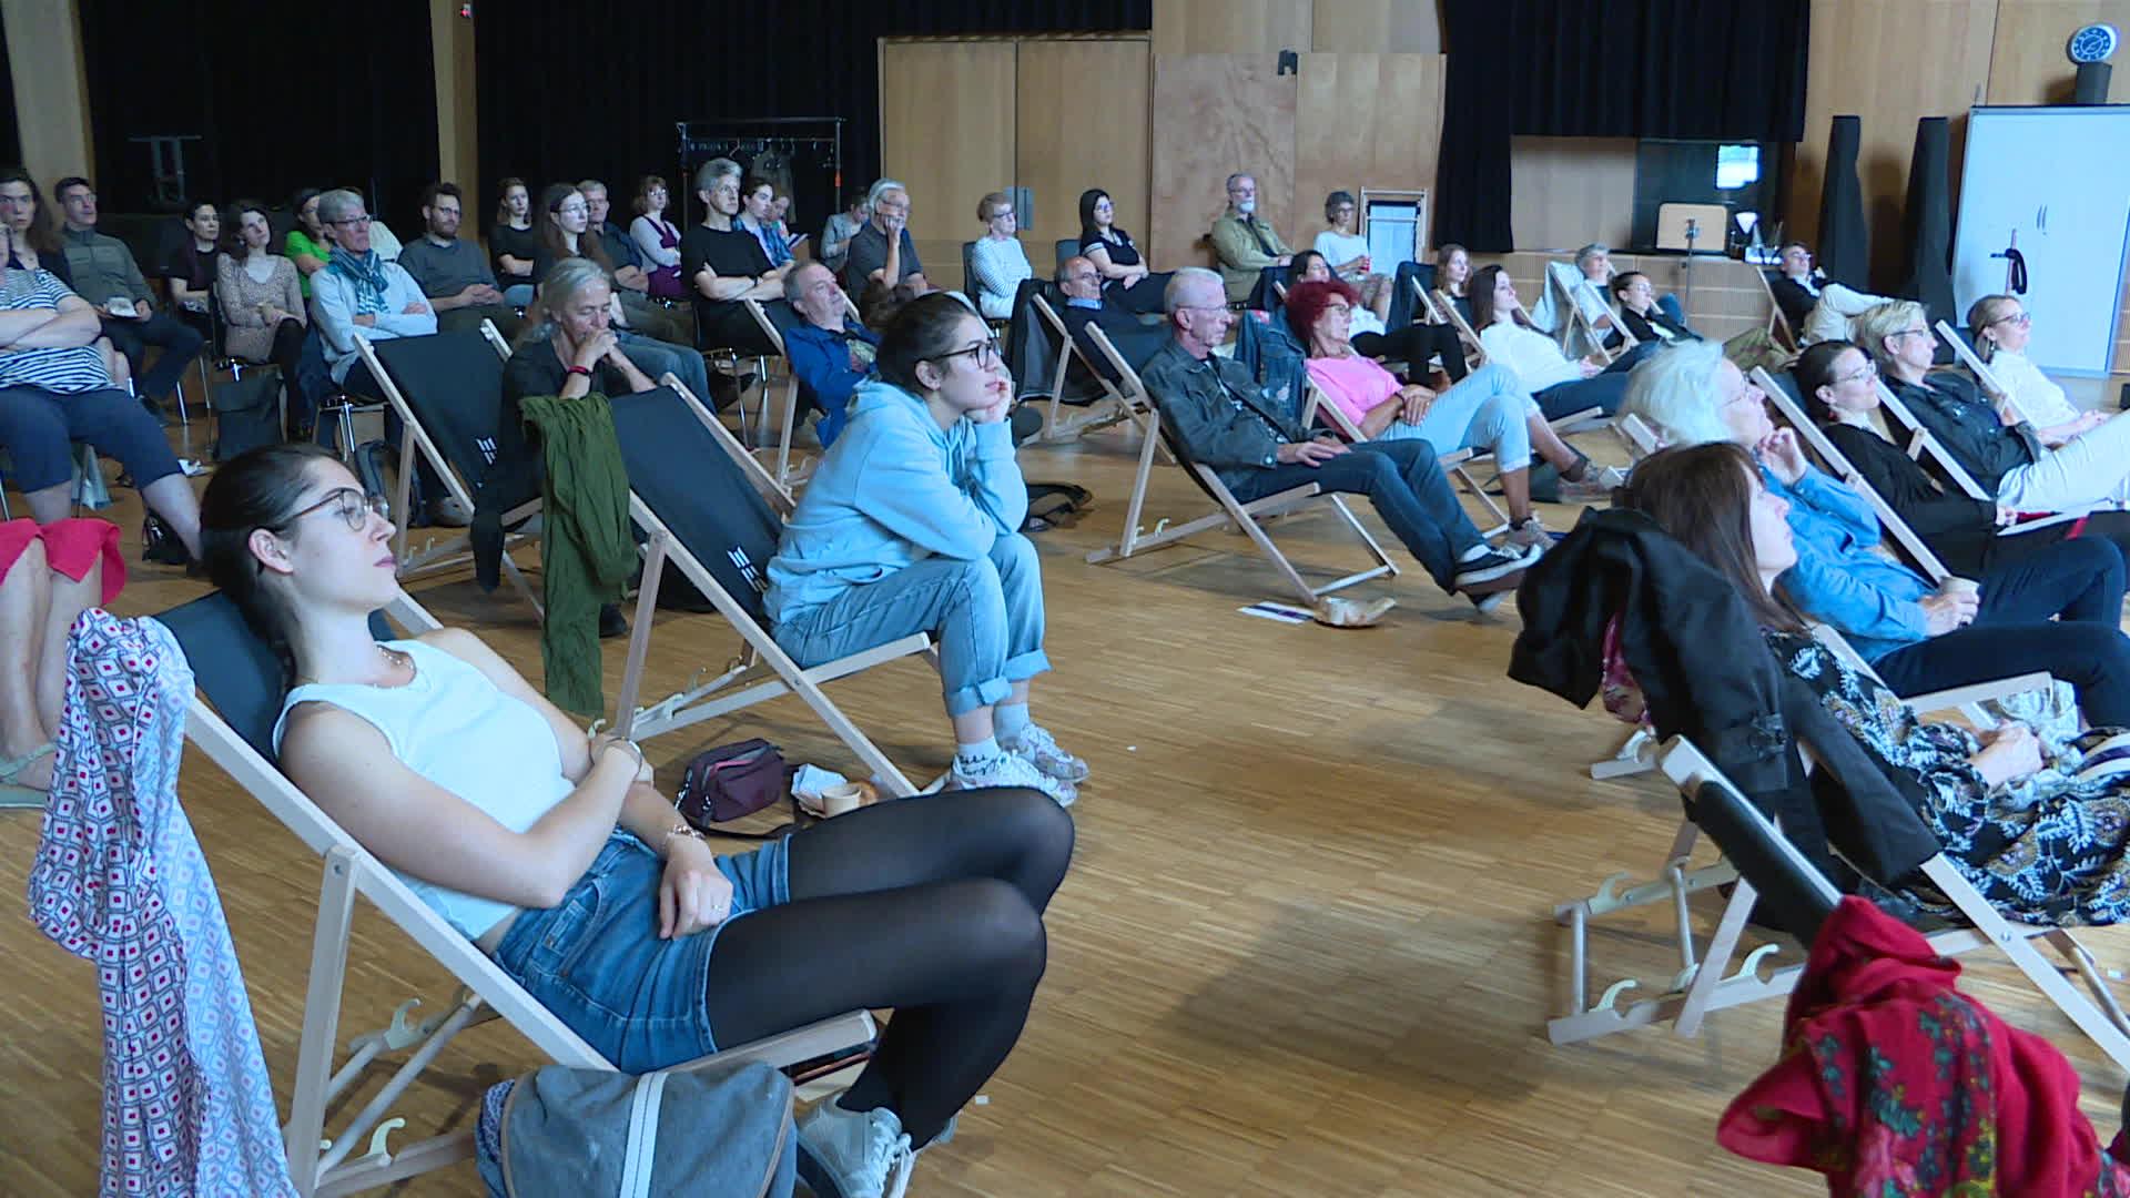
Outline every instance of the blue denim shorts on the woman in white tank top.
POLYGON ((650 1072, 718 1051, 709 1027, 709 953, 748 912, 790 902, 788 840, 718 857, 733 912, 707 932, 658 938, 665 861, 616 833, 558 906, 524 910, 496 964, 622 1072, 650 1072))

